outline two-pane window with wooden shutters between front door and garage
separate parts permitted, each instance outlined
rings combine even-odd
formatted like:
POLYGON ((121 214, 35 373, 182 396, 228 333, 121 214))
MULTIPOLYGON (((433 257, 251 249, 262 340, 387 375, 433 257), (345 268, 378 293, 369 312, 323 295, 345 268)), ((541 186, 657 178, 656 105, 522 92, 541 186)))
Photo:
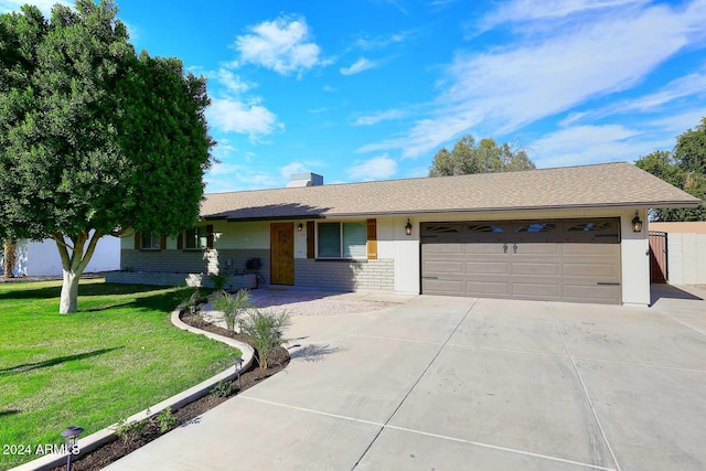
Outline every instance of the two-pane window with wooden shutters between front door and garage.
POLYGON ((319 223, 319 258, 367 258, 367 227, 360 223, 319 223))

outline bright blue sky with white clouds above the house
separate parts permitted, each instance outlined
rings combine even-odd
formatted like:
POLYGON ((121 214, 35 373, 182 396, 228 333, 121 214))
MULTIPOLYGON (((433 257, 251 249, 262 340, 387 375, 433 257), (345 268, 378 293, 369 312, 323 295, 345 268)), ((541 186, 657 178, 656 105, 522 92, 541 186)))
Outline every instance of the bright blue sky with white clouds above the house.
POLYGON ((425 176, 467 133, 538 168, 634 161, 706 116, 706 0, 118 7, 138 51, 208 78, 207 192, 425 176))

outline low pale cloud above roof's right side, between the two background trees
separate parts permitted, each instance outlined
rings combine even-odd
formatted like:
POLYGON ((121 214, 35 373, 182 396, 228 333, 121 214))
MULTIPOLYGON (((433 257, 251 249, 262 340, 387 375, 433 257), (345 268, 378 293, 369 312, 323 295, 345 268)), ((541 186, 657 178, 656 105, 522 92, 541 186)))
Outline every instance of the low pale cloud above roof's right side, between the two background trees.
POLYGON ((606 125, 561 129, 531 142, 527 150, 537 167, 548 168, 634 161, 673 144, 674 139, 665 135, 644 136, 620 125, 606 125))

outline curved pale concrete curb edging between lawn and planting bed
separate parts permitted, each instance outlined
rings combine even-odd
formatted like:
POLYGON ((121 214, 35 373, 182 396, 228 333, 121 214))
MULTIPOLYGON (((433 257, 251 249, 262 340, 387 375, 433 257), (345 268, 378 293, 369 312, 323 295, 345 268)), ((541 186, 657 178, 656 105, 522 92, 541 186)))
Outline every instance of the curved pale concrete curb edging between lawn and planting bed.
MULTIPOLYGON (((250 365, 253 364, 253 358, 255 357, 255 351, 250 345, 239 342, 235 339, 231 339, 224 335, 218 335, 216 333, 212 333, 207 331, 202 331, 201 329, 196 329, 192 325, 189 325, 181 320, 180 314, 181 314, 181 310, 179 309, 172 311, 172 315, 171 315, 172 324, 174 324, 176 328, 181 330, 185 330, 191 333, 195 333, 200 335, 205 335, 208 339, 223 342, 227 345, 238 349, 243 354, 242 371, 246 371, 250 367, 250 365)), ((168 397, 161 403, 158 403, 151 407, 148 407, 145 410, 141 410, 137 414, 131 415, 130 417, 127 418, 127 422, 129 424, 135 420, 149 419, 150 417, 158 415, 159 413, 167 409, 168 407, 171 407, 172 411, 178 410, 184 407, 186 404, 193 403, 194 400, 200 399, 201 397, 208 394, 208 392, 213 388, 213 386, 215 386, 218 382, 232 381, 236 376, 237 376, 237 372, 235 371, 235 365, 233 365, 227 370, 218 373, 217 375, 212 376, 208 379, 205 379, 182 393, 175 394, 172 397, 168 397)), ((78 449, 81 450, 81 452, 78 456, 76 456, 76 458, 81 457, 82 454, 88 453, 101 447, 105 443, 108 443, 115 440, 117 438, 117 435, 116 435, 117 425, 118 424, 113 424, 104 428, 103 430, 98 430, 85 438, 79 439, 78 449)), ((42 458, 38 458, 24 464, 20 464, 19 467, 12 468, 10 471, 49 471, 49 470, 52 470, 53 468, 64 464, 65 462, 66 462, 65 454, 46 454, 42 458)))

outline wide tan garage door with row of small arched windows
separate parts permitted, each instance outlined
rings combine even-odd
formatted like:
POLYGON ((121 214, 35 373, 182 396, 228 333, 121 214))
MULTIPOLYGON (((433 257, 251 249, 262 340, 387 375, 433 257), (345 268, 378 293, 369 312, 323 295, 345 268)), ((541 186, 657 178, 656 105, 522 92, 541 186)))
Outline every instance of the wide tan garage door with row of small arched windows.
POLYGON ((421 291, 620 303, 620 220, 422 223, 421 291))

